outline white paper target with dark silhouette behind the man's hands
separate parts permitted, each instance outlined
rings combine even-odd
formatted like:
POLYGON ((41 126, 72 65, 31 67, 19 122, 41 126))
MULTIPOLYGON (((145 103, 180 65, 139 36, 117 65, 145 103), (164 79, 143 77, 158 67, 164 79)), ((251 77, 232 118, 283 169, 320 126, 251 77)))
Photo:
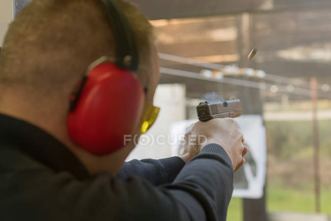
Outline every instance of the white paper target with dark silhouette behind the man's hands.
MULTIPOLYGON (((246 162, 234 175, 232 196, 260 199, 263 195, 266 175, 266 132, 262 116, 241 115, 235 120, 244 135, 244 144, 248 146, 249 152, 245 156, 246 162)), ((170 128, 171 137, 176 138, 172 145, 172 156, 178 156, 183 151, 183 142, 178 137, 185 133, 190 124, 196 121, 194 119, 174 122, 170 128)))

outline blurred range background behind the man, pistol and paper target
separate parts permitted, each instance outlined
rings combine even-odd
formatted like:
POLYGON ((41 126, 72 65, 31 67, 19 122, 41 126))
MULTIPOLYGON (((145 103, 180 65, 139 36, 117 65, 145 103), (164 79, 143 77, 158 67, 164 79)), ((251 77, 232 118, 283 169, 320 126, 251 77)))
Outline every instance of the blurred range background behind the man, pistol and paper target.
MULTIPOLYGON (((1 0, 0 42, 28 2, 1 0)), ((331 2, 132 2, 151 19, 161 59, 161 112, 150 134, 197 119, 208 92, 238 98, 244 115, 263 119, 262 197, 232 198, 228 220, 331 220, 331 2)), ((170 145, 145 145, 128 160, 171 155, 170 145)))

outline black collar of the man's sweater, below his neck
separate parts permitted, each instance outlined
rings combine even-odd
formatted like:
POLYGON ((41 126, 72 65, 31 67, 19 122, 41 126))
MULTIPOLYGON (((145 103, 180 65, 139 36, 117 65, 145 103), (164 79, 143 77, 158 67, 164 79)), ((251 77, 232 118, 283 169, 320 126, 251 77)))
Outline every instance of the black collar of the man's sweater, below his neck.
POLYGON ((90 177, 85 166, 59 140, 29 122, 0 114, 0 148, 5 143, 55 172, 68 171, 80 180, 90 177))

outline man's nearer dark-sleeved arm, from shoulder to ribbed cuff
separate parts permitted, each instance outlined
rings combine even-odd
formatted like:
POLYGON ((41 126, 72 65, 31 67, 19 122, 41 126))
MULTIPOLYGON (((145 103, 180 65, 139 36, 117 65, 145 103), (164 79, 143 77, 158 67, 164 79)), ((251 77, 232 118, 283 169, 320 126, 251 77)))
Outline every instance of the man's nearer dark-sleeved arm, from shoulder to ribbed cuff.
POLYGON ((46 169, 11 177, 16 193, 2 193, 4 220, 226 220, 233 190, 227 153, 209 144, 173 182, 155 187, 140 178, 125 181, 108 173, 77 181, 46 169), (16 178, 15 178, 16 177, 16 178))

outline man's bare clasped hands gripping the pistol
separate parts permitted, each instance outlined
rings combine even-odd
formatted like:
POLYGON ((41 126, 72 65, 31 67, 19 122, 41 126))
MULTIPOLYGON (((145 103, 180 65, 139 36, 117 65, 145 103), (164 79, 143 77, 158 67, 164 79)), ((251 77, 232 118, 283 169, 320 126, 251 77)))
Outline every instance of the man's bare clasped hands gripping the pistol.
POLYGON ((243 134, 239 131, 236 121, 232 118, 212 119, 207 122, 198 121, 192 124, 185 134, 185 149, 181 157, 185 162, 188 162, 205 145, 216 143, 221 145, 227 152, 231 159, 233 170, 237 171, 245 162, 243 156, 248 152, 248 148, 243 145, 243 141, 243 134), (206 140, 203 143, 198 143, 199 139, 197 137, 199 136, 204 137, 206 140), (196 139, 190 139, 191 137, 196 139))

